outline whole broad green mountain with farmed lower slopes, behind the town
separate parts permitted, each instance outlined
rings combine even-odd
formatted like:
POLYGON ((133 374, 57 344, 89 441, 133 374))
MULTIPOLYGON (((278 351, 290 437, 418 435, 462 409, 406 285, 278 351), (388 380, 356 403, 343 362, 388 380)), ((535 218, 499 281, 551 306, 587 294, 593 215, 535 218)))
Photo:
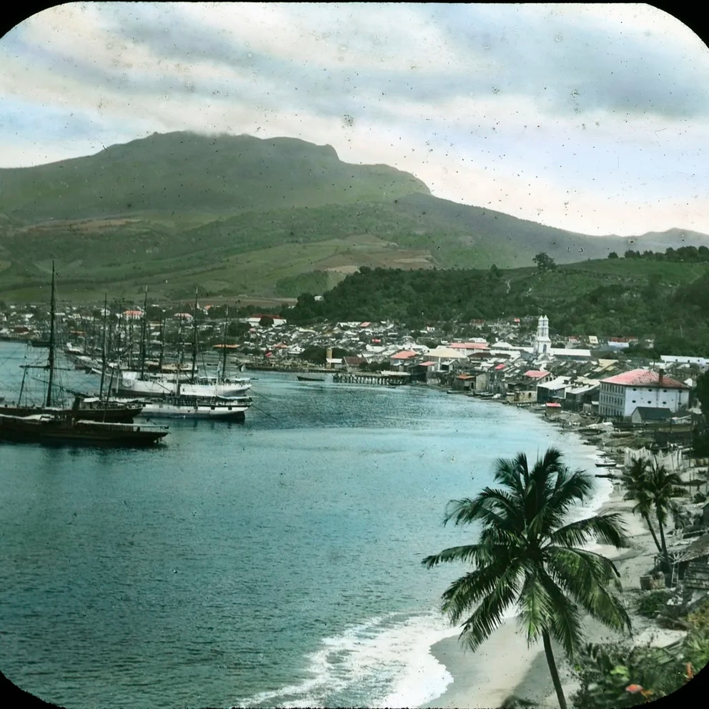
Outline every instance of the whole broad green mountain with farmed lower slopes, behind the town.
MULTIPOLYGON (((475 195, 471 194, 474 201, 475 195)), ((386 165, 292 138, 153 134, 89 157, 0 169, 0 296, 34 299, 51 259, 74 297, 293 297, 360 266, 527 266, 709 237, 590 237, 438 199, 386 165)))

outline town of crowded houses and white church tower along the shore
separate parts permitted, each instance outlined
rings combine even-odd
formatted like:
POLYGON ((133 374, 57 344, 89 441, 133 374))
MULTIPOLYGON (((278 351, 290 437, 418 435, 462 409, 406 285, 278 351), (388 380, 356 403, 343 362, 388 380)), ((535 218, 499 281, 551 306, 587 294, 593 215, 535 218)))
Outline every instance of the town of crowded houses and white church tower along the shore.
MULTIPOLYGON (((221 341, 222 322, 208 317, 208 306, 201 311, 200 342, 209 341, 209 337, 212 342, 221 341)), ((128 324, 144 317, 139 308, 111 317, 119 315, 128 324)), ((88 329, 89 316, 77 308, 67 308, 58 317, 83 328, 75 332, 88 329)), ((184 322, 192 321, 193 315, 175 312, 167 317, 184 322)), ((565 347, 555 347, 545 316, 537 319, 531 339, 520 334, 520 319, 515 318, 487 323, 486 337, 469 337, 465 342, 442 339, 443 333, 434 327, 414 336, 392 322, 297 327, 270 313, 254 313, 240 320, 249 327, 239 344, 229 345, 239 362, 296 369, 304 367, 302 355, 309 347, 320 347, 326 350, 324 367, 335 372, 371 370, 376 365, 380 370, 407 375, 412 382, 520 405, 543 405, 550 414, 570 410, 636 424, 688 415, 693 377, 709 366, 709 359, 702 357, 663 356, 660 362, 628 362, 608 356, 627 349, 632 338, 609 338, 602 343, 597 337, 587 337, 582 343, 570 337, 563 343, 565 347), (587 344, 587 349, 580 344, 587 344), (333 357, 336 349, 352 354, 333 357)), ((0 312, 2 339, 31 339, 41 327, 46 329, 42 308, 10 306, 0 312)), ((159 322, 150 323, 153 341, 160 327, 159 322)), ((477 329, 482 334, 480 327, 477 329)))

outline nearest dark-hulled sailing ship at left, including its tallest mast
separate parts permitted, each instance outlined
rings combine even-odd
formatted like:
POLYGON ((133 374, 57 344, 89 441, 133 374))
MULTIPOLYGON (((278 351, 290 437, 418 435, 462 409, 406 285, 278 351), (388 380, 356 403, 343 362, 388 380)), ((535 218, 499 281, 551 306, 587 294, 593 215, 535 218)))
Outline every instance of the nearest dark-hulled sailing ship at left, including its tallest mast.
MULTIPOLYGON (((51 264, 51 300, 49 306, 49 357, 44 369, 48 372, 46 402, 41 412, 29 415, 0 414, 0 440, 37 443, 69 443, 74 445, 153 445, 168 434, 165 427, 88 420, 76 396, 70 409, 53 407, 55 362, 56 292, 54 262, 51 264)), ((100 411, 96 409, 94 411, 100 411)))

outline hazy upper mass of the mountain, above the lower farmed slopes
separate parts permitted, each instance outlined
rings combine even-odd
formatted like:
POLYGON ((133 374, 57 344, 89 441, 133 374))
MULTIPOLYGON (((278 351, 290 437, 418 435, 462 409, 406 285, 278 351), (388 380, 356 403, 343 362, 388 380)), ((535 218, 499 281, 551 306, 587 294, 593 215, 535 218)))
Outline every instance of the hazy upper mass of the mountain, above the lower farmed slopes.
POLYGON ((235 214, 395 199, 429 192, 386 165, 341 162, 329 145, 294 138, 153 134, 90 157, 0 170, 0 213, 45 219, 235 214))

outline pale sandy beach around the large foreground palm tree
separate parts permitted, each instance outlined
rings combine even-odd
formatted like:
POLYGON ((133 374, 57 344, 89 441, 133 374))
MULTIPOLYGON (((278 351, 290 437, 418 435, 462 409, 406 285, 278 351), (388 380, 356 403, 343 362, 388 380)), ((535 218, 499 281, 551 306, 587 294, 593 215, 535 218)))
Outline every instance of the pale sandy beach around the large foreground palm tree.
MULTIPOLYGON (((603 452, 603 447, 599 447, 598 452, 603 452)), ((643 520, 633 515, 632 508, 633 502, 623 501, 623 490, 616 484, 608 500, 595 512, 620 512, 623 515, 630 547, 616 550, 615 547, 594 545, 593 550, 616 562, 624 590, 639 590, 640 575, 653 567, 656 552, 650 532, 643 520)), ((628 610, 630 613, 630 608, 628 610)), ((634 615, 631 618, 633 633, 638 635, 647 627, 648 621, 634 615)), ((586 638, 591 643, 610 640, 613 635, 597 621, 586 618, 584 625, 586 638)), ((549 708, 558 706, 541 642, 527 648, 525 638, 517 632, 514 619, 505 621, 475 654, 464 648, 457 635, 435 643, 431 653, 445 665, 453 682, 440 697, 423 705, 425 708, 500 708, 512 697, 531 700, 549 708)), ((575 683, 560 648, 555 648, 555 657, 568 701, 575 691, 575 683)))

